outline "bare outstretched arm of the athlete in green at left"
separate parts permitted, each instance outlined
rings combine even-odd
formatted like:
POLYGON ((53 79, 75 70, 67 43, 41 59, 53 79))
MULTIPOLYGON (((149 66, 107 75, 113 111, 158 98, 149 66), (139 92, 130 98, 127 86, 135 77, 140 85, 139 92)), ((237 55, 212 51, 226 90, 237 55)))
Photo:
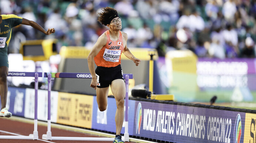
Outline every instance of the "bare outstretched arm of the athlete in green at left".
POLYGON ((22 18, 22 23, 21 24, 24 24, 24 25, 30 25, 32 26, 33 28, 43 32, 44 34, 46 35, 50 35, 52 33, 55 32, 55 29, 54 28, 48 28, 47 31, 45 31, 45 29, 43 29, 42 26, 40 26, 38 23, 36 23, 35 21, 31 21, 31 20, 27 20, 26 18, 22 18))

